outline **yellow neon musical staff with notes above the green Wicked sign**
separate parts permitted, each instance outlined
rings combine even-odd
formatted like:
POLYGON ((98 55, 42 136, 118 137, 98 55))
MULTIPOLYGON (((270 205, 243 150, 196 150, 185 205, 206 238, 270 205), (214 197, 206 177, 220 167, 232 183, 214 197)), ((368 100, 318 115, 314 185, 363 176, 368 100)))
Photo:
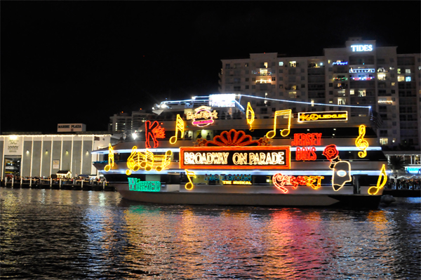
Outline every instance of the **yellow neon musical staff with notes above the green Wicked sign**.
POLYGON ((131 155, 127 159, 126 175, 131 175, 133 171, 138 171, 140 168, 145 171, 151 171, 152 168, 156 171, 163 171, 167 169, 171 163, 171 154, 173 152, 166 151, 165 154, 154 155, 154 153, 146 150, 145 153, 137 152, 138 147, 133 146, 131 155))

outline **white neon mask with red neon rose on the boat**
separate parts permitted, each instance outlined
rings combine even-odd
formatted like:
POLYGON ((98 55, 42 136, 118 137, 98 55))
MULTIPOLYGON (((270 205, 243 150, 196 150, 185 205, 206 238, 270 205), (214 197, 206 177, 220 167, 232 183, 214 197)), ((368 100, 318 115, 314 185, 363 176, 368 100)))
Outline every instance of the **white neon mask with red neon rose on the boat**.
POLYGON ((336 145, 328 145, 323 150, 323 156, 330 161, 329 168, 333 170, 332 187, 333 190, 338 191, 345 185, 346 182, 351 182, 351 164, 348 161, 342 161, 339 158, 338 149, 336 145))

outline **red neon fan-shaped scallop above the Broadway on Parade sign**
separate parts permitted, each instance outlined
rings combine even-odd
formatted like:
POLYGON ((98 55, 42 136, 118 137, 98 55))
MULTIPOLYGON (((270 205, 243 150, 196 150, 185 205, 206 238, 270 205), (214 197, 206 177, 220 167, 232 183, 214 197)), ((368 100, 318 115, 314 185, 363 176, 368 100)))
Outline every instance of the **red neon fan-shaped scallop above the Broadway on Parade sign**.
POLYGON ((207 141, 206 147, 227 147, 227 146, 260 146, 258 140, 253 140, 250 135, 246 135, 244 131, 222 131, 220 135, 216 135, 213 141, 207 141))

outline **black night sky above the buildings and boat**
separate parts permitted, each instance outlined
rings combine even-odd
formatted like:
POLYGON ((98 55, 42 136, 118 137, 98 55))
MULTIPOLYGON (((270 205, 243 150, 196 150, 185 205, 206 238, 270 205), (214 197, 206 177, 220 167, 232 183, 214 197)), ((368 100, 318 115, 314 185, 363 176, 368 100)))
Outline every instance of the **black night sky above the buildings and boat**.
POLYGON ((221 59, 323 55, 349 36, 420 53, 420 1, 2 1, 1 132, 105 131, 109 116, 218 93, 221 59))

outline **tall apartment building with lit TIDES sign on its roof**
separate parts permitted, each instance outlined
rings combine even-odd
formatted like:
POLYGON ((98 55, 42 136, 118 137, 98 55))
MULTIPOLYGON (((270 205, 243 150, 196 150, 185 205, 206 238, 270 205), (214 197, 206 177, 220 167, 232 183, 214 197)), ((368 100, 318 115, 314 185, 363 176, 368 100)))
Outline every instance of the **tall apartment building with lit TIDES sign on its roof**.
MULTIPOLYGON (((281 108, 276 100, 313 103, 312 111, 346 109, 366 114, 371 106, 378 122, 380 145, 420 149, 420 53, 398 54, 396 46, 376 46, 373 40, 349 38, 344 48, 325 48, 322 56, 287 57, 278 53, 251 53, 250 58, 222 60, 220 93, 267 98, 254 102, 261 117, 281 108)), ((302 112, 306 106, 291 103, 302 112)))

